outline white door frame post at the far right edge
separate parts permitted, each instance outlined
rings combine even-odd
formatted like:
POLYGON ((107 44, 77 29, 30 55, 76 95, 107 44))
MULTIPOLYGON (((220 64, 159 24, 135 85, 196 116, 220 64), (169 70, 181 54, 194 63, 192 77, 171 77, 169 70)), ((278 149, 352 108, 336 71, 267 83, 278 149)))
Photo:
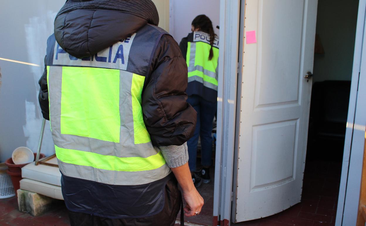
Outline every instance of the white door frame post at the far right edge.
POLYGON ((336 226, 356 225, 366 125, 366 0, 359 0, 336 226), (362 62, 362 57, 364 58, 362 62))

